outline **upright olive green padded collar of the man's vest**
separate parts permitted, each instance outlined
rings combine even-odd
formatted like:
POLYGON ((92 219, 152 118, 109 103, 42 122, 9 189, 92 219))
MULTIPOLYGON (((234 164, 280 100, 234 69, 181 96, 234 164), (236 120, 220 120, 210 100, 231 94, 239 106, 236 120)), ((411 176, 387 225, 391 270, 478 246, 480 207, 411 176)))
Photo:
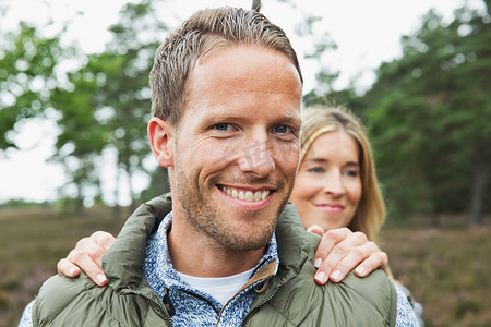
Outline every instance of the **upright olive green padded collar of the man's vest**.
MULTIPOLYGON (((171 209, 171 196, 167 193, 141 205, 128 218, 103 257, 103 270, 113 289, 148 287, 143 270, 146 243, 171 209)), ((306 230, 292 203, 288 203, 279 216, 276 237, 279 256, 277 277, 284 284, 298 275, 309 253, 306 230)))

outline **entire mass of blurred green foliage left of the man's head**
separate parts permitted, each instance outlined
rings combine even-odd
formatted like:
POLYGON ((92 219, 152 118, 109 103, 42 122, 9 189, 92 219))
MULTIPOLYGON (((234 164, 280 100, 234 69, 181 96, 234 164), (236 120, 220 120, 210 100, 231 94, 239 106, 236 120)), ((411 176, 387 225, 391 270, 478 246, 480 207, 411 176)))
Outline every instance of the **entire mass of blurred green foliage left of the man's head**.
POLYGON ((103 53, 86 56, 62 47, 62 33, 44 37, 41 26, 25 23, 19 32, 0 36, 0 148, 16 146, 16 123, 49 112, 60 131, 52 160, 62 164, 70 178, 60 194, 75 195, 69 203, 77 210, 87 198, 101 196, 105 150, 117 155, 117 190, 123 181, 120 174, 131 181, 134 172, 145 171, 148 72, 166 31, 154 2, 125 4, 103 53), (77 66, 67 72, 61 64, 69 59, 77 66))

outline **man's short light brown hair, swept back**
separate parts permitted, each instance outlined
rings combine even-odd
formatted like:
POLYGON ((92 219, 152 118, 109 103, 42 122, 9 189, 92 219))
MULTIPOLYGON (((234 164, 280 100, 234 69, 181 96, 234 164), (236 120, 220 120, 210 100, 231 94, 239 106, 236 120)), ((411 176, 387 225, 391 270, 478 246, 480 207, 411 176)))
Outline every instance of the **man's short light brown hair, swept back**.
POLYGON ((255 11, 205 9, 184 21, 155 55, 149 76, 153 116, 179 124, 191 70, 209 51, 239 44, 261 45, 284 53, 303 83, 297 53, 280 27, 255 11))

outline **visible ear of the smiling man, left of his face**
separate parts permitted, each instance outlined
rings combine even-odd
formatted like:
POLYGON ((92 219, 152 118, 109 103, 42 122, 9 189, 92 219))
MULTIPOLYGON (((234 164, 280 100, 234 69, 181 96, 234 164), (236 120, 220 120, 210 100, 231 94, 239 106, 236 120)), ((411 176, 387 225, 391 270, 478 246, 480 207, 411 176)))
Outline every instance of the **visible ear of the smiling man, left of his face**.
POLYGON ((148 140, 155 159, 161 167, 173 165, 173 128, 159 118, 152 118, 148 122, 148 140))

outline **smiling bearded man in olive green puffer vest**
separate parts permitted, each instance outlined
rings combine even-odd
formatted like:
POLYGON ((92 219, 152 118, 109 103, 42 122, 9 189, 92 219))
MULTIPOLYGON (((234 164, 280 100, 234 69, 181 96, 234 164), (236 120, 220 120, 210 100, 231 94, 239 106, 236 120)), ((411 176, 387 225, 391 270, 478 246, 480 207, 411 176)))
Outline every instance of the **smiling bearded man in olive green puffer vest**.
POLYGON ((288 38, 263 15, 223 8, 185 21, 151 72, 148 137, 171 201, 130 217, 103 261, 109 287, 55 276, 33 324, 394 326, 397 296, 381 270, 312 279, 319 238, 287 205, 301 86, 288 38))

